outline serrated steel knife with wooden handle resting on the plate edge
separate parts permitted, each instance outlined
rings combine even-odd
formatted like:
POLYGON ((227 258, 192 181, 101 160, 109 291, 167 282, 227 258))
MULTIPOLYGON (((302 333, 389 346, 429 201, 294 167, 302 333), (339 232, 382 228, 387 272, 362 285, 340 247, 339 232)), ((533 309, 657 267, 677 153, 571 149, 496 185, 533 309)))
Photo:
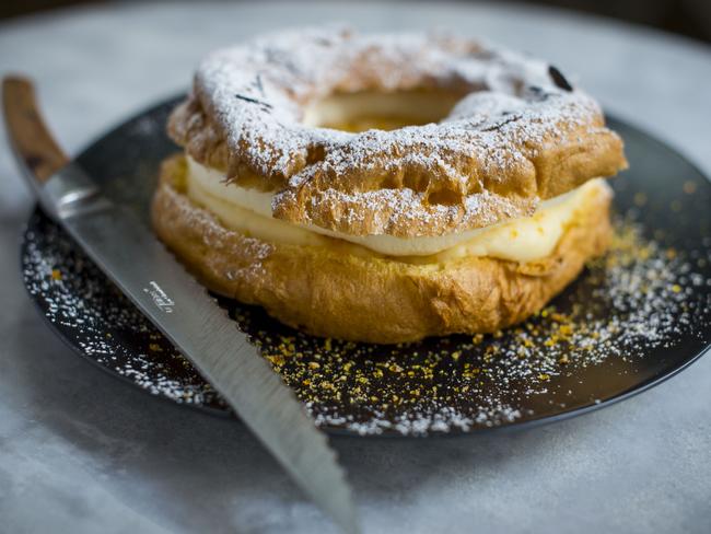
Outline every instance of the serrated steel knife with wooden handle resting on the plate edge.
POLYGON ((348 533, 360 532, 350 487, 326 436, 208 292, 127 209, 55 142, 33 84, 2 83, 18 164, 43 210, 178 348, 281 463, 348 533))

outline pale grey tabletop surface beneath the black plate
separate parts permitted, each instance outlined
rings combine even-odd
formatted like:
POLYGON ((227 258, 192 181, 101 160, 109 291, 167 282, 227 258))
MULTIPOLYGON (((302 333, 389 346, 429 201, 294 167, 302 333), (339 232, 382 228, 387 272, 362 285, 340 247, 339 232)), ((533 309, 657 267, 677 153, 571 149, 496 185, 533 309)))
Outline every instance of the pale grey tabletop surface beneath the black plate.
MULTIPOLYGON (((711 174, 711 51, 558 11, 465 4, 117 4, 0 25, 75 153, 184 89, 207 50, 346 21, 453 27, 549 58, 711 174)), ((71 353, 18 268, 31 200, 0 132, 0 532, 335 532, 242 425, 178 408, 71 353)), ((711 358, 607 409, 525 432, 335 439, 366 532, 709 532, 711 358)))

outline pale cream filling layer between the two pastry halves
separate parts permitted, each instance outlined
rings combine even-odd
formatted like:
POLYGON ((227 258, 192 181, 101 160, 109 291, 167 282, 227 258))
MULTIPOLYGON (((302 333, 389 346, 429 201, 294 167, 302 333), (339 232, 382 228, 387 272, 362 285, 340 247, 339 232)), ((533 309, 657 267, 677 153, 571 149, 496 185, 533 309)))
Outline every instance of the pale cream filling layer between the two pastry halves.
POLYGON ((491 227, 438 236, 349 235, 315 225, 293 224, 271 216, 272 193, 228 184, 219 171, 188 160, 187 195, 214 213, 228 228, 277 243, 333 244, 328 237, 361 245, 387 256, 436 256, 436 260, 489 256, 532 262, 549 256, 566 227, 592 195, 610 195, 602 178, 586 182, 564 195, 540 202, 532 217, 491 227))

